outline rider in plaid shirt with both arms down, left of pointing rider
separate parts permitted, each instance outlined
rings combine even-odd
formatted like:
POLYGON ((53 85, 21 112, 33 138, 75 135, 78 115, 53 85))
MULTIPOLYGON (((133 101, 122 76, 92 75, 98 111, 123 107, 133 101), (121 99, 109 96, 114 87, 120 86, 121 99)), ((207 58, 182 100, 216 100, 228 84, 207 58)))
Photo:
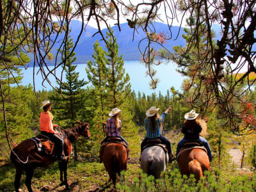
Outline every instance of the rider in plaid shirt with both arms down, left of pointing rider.
POLYGON ((117 137, 117 138, 120 138, 122 141, 124 141, 128 145, 128 142, 120 134, 122 122, 118 117, 121 111, 122 110, 118 108, 114 108, 109 112, 109 116, 111 118, 107 120, 107 124, 105 127, 106 138, 104 138, 104 140, 101 141, 101 144, 108 141, 108 138, 117 137))

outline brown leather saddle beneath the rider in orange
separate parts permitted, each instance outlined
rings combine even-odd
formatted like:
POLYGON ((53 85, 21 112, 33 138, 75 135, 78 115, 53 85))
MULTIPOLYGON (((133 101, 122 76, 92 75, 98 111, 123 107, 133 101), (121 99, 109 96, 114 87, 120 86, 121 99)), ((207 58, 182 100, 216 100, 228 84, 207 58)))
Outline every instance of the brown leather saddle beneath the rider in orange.
POLYGON ((45 154, 50 155, 52 154, 54 143, 52 143, 48 137, 42 138, 38 135, 36 137, 31 138, 31 140, 34 141, 38 152, 45 152, 45 154))

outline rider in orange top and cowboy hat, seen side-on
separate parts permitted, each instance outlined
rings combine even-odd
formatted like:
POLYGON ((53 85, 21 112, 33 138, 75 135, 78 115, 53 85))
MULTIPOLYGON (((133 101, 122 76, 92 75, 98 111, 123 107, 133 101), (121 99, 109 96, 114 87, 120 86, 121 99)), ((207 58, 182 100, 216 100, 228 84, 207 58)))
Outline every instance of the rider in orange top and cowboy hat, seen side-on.
POLYGON ((51 105, 53 103, 49 100, 42 102, 42 107, 44 111, 40 114, 40 131, 45 136, 49 137, 52 142, 56 145, 56 155, 59 160, 65 160, 63 156, 63 140, 59 135, 59 132, 56 131, 55 127, 58 127, 57 124, 52 124, 53 115, 51 111, 51 105))

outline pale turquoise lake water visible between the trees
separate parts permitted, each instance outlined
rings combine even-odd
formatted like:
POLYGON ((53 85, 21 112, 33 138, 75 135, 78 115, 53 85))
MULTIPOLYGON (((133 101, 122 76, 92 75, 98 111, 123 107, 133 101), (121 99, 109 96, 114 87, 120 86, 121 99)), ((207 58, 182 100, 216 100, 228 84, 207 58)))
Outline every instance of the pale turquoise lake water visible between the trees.
MULTIPOLYGON (((86 64, 79 64, 76 67, 76 71, 79 72, 79 79, 87 80, 87 74, 85 70, 86 64)), ((139 61, 125 61, 124 64, 125 72, 127 72, 130 76, 131 89, 136 93, 141 92, 146 95, 150 95, 151 93, 159 93, 159 91, 165 95, 167 90, 172 86, 175 90, 180 90, 180 86, 184 79, 179 72, 175 70, 177 68, 174 63, 170 62, 168 64, 161 64, 159 66, 155 66, 154 69, 157 70, 157 77, 159 78, 159 84, 155 90, 152 90, 149 86, 150 77, 145 75, 146 68, 145 65, 141 64, 139 61)), ((53 67, 49 67, 53 68, 53 67)), ((36 67, 35 72, 38 71, 38 67, 36 67)), ((26 70, 23 69, 22 73, 24 74, 24 78, 22 80, 23 85, 28 85, 29 83, 33 84, 33 67, 29 67, 26 70)), ((56 70, 56 75, 60 77, 61 75, 61 67, 56 70)), ((49 77, 51 84, 56 86, 56 81, 54 77, 49 77)), ((63 81, 65 81, 65 75, 63 77, 63 81)), ((35 88, 38 90, 52 90, 52 87, 49 83, 45 82, 44 86, 42 86, 42 76, 38 74, 35 76, 35 88), (46 88, 45 88, 45 87, 46 88)), ((87 85, 86 85, 87 86, 87 85)))

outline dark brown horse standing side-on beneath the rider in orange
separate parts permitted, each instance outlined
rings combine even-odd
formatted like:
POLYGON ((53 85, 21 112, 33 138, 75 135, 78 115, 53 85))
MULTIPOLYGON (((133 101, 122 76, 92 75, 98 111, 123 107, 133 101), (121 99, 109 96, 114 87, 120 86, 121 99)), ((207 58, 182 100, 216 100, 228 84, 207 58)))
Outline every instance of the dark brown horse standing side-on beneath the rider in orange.
MULTIPOLYGON (((72 143, 77 140, 79 136, 84 136, 86 139, 90 138, 90 132, 88 124, 86 122, 79 122, 79 125, 60 131, 64 139, 64 153, 67 159, 59 162, 60 168, 60 186, 65 185, 68 188, 67 182, 67 164, 69 161, 69 155, 72 151, 72 143), (63 180, 64 173, 64 180, 63 180)), ((22 172, 26 172, 26 186, 28 191, 33 191, 31 188, 31 180, 36 167, 47 167, 56 161, 56 156, 46 154, 44 152, 38 152, 38 149, 33 140, 24 140, 17 147, 13 148, 11 152, 11 160, 15 164, 16 175, 15 175, 15 191, 19 191, 20 179, 22 172)))

